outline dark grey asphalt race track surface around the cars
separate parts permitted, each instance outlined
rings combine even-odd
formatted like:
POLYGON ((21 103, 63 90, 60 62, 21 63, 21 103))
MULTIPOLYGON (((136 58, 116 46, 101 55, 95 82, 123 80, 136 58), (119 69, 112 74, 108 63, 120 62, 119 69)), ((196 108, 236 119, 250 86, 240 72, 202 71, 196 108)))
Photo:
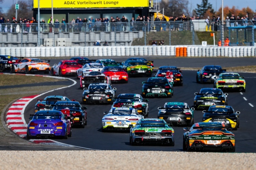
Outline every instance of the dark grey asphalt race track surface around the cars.
MULTIPOLYGON (((224 67, 230 66, 246 66, 255 65, 256 58, 147 58, 154 60, 155 67, 163 65, 174 65, 177 67, 202 67, 208 64, 221 65, 224 67)), ((116 58, 116 61, 124 61, 126 58, 116 58)), ((57 64, 59 60, 51 60, 51 65, 57 64)), ((190 106, 193 105, 194 93, 199 92, 201 88, 213 87, 213 84, 197 84, 196 71, 183 71, 183 86, 174 87, 174 96, 172 98, 154 98, 149 99, 149 116, 148 118, 157 118, 157 107, 163 106, 165 102, 177 101, 186 102, 190 106)), ((233 131, 236 137, 236 152, 256 152, 256 134, 254 127, 256 124, 255 107, 256 91, 254 83, 256 82, 255 73, 240 73, 246 80, 246 92, 228 92, 228 104, 235 111, 240 111, 240 128, 233 131), (245 100, 245 99, 246 100, 245 100), (251 105, 250 105, 250 104, 251 105)), ((71 77, 72 78, 72 77, 71 77)), ((75 79, 75 78, 73 78, 75 79)), ((142 82, 147 78, 129 78, 127 84, 113 84, 112 87, 117 88, 117 94, 120 93, 138 93, 141 94, 142 82)), ((79 82, 79 80, 77 80, 79 82)), ((83 90, 79 89, 79 83, 68 89, 61 89, 49 95, 63 95, 69 99, 75 99, 82 102, 83 90)), ((33 100, 25 110, 25 120, 29 122, 29 114, 34 114, 34 105, 37 100, 33 100)), ((101 132, 101 119, 104 111, 109 111, 111 105, 86 105, 88 123, 84 129, 73 128, 72 137, 65 139, 54 139, 58 142, 67 143, 83 148, 98 149, 98 150, 140 150, 140 151, 182 151, 183 127, 173 127, 175 146, 130 146, 129 133, 124 132, 101 132)), ((194 111, 194 122, 202 121, 202 111, 194 111)))

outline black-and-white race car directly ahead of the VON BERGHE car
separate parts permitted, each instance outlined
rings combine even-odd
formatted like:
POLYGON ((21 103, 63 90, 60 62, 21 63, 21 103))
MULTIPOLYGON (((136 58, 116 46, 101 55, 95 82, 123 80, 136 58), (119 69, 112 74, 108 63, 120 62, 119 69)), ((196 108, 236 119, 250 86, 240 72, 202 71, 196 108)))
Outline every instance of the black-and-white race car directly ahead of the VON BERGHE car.
POLYGON ((80 87, 88 87, 91 83, 108 83, 112 84, 110 77, 101 73, 100 71, 92 71, 86 73, 82 78, 80 78, 80 87))

